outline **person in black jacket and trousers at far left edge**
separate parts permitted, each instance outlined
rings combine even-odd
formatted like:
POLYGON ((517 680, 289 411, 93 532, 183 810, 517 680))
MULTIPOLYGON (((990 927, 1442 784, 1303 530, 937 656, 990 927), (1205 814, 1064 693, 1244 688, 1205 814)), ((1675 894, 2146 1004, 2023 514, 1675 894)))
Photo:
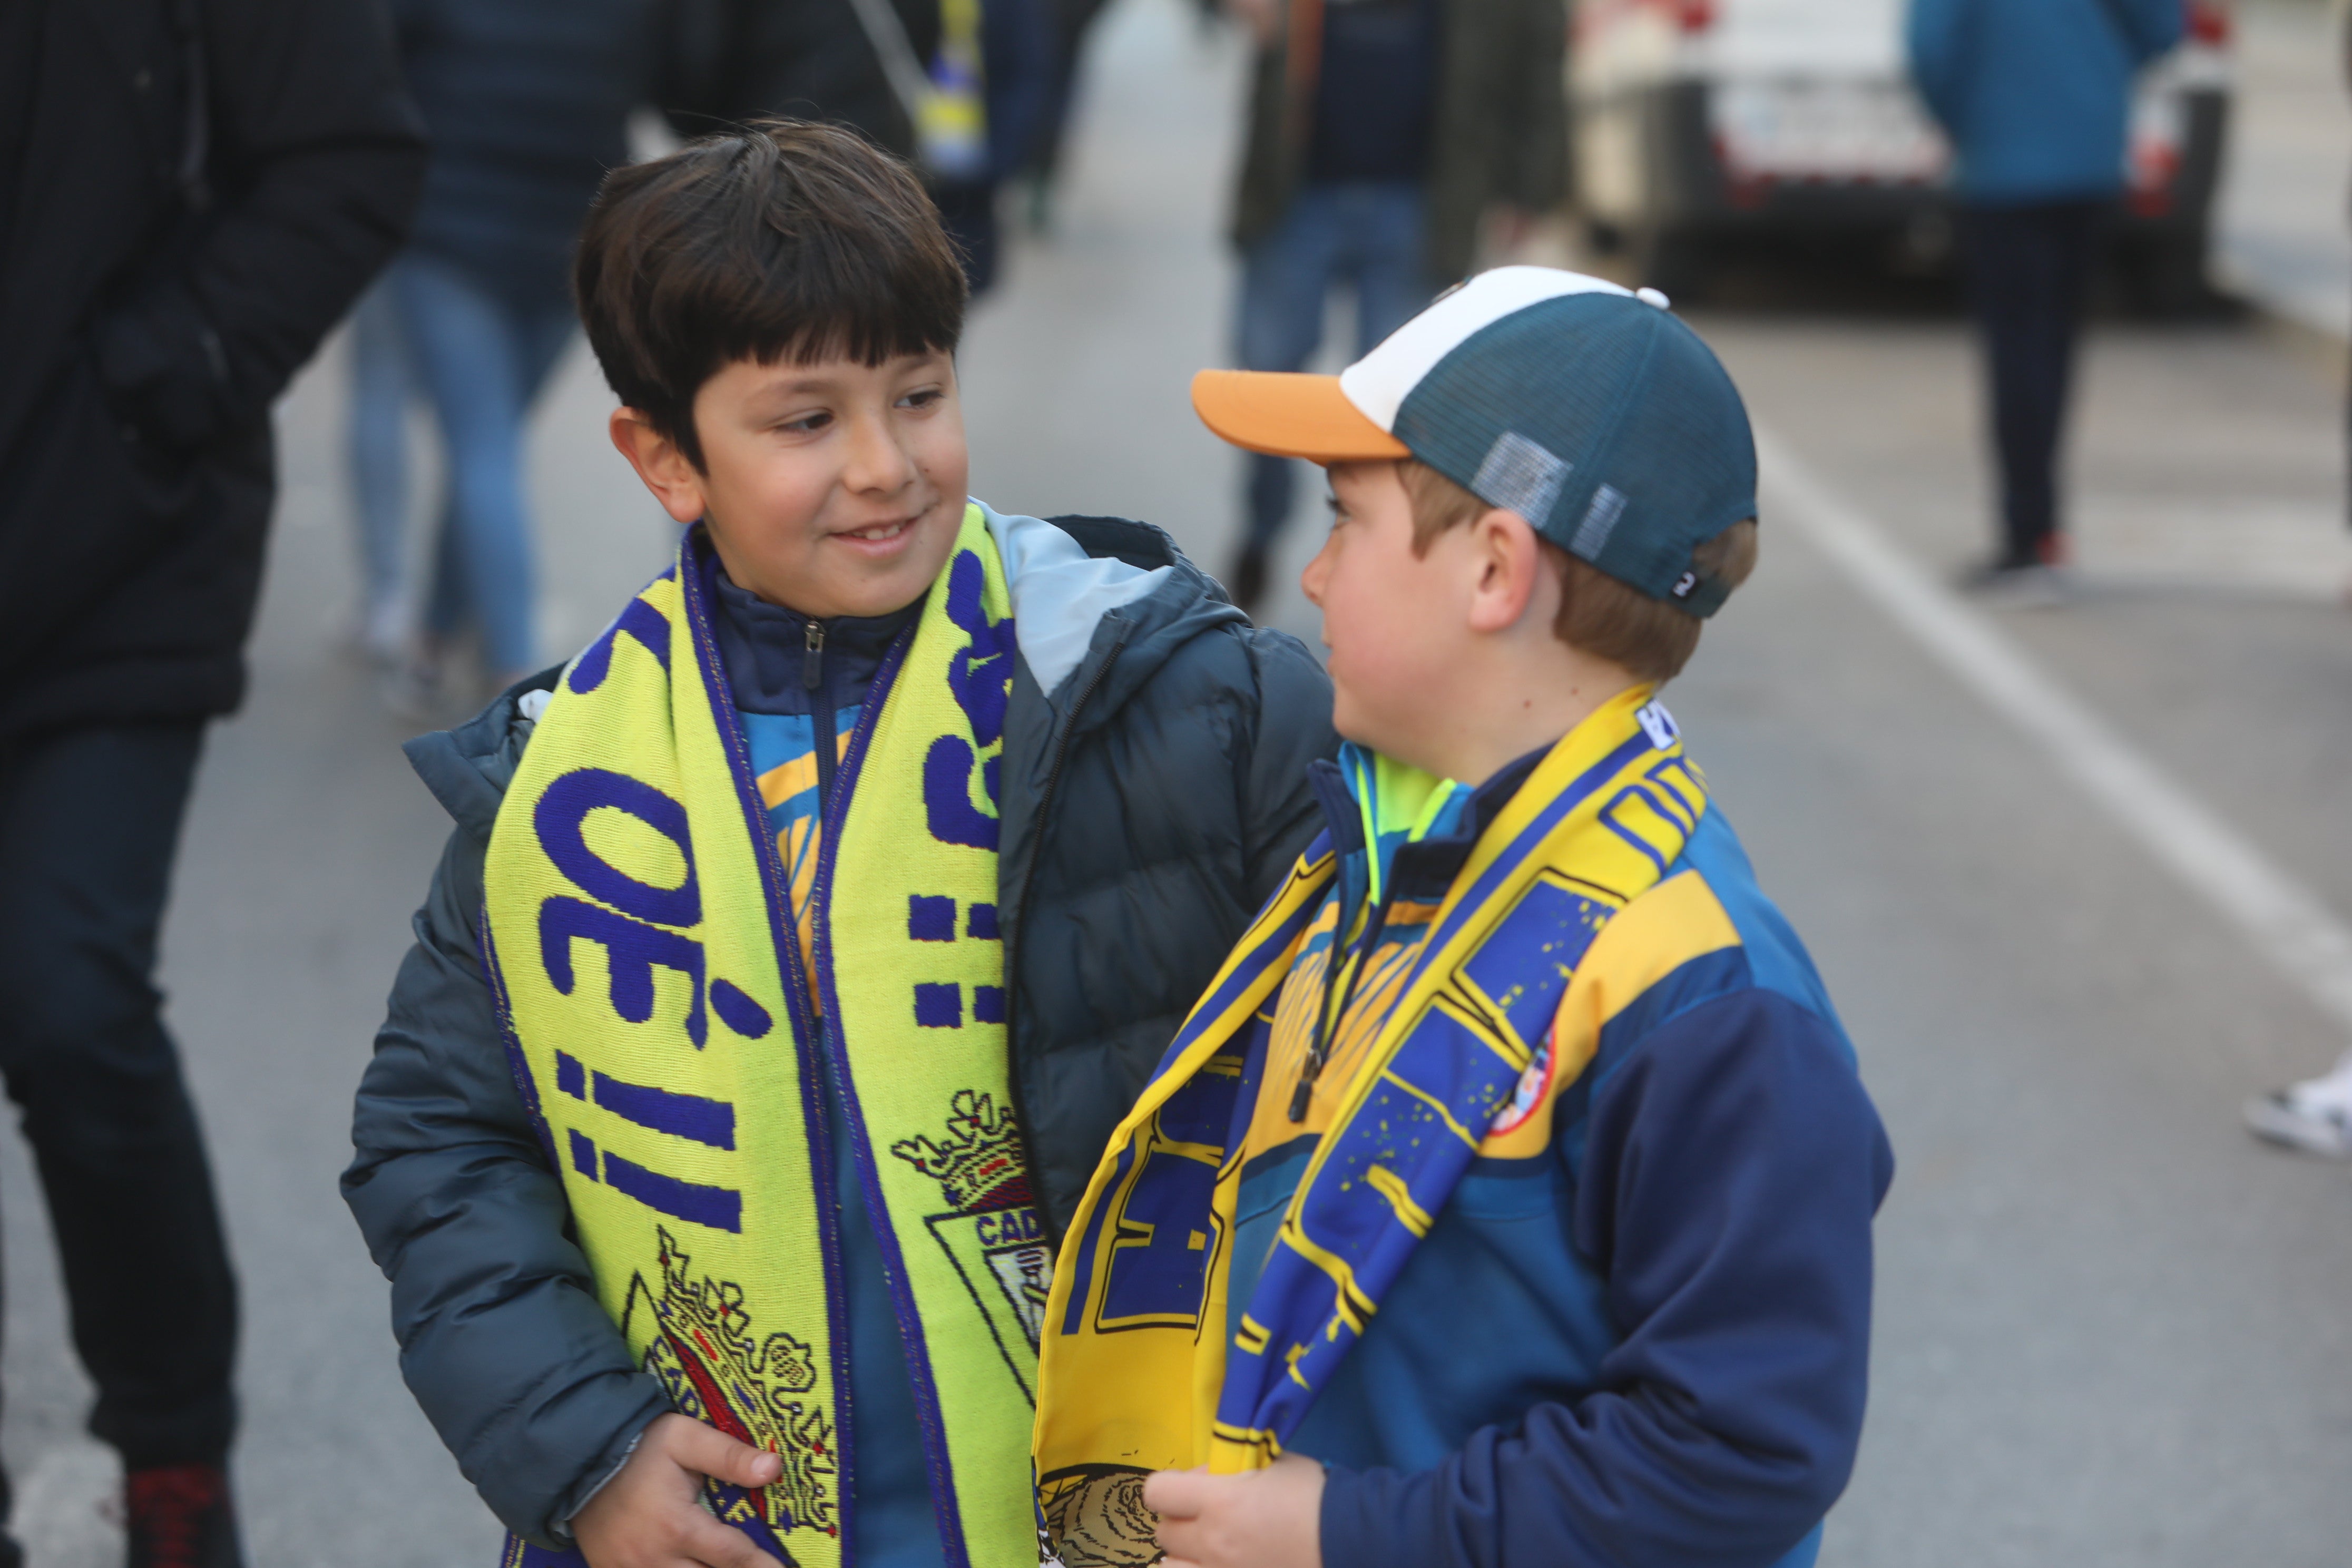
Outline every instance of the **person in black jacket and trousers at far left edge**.
POLYGON ((132 1568, 242 1561, 238 1286, 155 943, 205 722, 245 696, 270 402, 421 174, 367 0, 0 7, 0 1072, 132 1568))

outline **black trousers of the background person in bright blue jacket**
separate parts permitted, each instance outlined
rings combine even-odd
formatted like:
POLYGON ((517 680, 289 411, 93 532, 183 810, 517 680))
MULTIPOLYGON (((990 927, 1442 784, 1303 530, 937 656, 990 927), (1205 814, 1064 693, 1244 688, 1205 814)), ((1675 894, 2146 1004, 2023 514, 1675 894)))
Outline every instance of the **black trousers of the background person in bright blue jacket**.
POLYGON ((2058 442, 2105 202, 1964 207, 1969 303, 1985 346, 2002 461, 2002 564, 2051 559, 2058 442))

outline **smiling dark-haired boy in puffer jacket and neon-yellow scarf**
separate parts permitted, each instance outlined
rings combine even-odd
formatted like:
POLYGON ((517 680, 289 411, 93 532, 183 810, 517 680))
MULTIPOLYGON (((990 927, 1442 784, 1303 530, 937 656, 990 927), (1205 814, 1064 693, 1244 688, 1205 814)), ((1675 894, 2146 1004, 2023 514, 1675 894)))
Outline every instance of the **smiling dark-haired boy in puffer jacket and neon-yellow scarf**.
POLYGON ((856 134, 614 172, 576 289, 691 527, 409 748, 459 830, 343 1178, 402 1371, 510 1568, 1021 1561, 1051 1237, 1329 686, 1157 529, 964 498, 962 273, 856 134))

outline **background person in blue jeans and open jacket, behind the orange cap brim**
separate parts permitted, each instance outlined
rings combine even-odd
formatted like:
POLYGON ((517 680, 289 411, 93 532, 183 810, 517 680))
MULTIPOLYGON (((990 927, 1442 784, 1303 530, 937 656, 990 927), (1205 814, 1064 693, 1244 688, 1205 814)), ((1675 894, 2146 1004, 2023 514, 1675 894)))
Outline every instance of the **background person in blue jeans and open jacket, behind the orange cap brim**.
MULTIPOLYGON (((1491 209, 1508 228, 1566 195, 1562 0, 1228 0, 1258 40, 1232 240, 1235 355, 1296 371, 1324 296, 1355 294, 1355 353, 1468 275, 1491 209)), ((1225 585, 1254 611, 1296 463, 1247 458, 1225 585)))

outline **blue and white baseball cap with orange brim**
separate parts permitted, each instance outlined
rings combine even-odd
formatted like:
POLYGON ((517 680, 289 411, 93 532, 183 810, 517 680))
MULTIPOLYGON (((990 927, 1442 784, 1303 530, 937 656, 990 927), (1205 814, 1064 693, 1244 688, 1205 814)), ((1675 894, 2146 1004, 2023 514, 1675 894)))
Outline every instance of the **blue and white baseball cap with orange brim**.
POLYGON ((1731 585, 1691 550, 1757 515, 1755 435, 1715 353, 1656 289, 1559 268, 1479 273, 1338 376, 1200 371, 1192 409, 1249 451, 1418 458, 1693 616, 1731 585))

